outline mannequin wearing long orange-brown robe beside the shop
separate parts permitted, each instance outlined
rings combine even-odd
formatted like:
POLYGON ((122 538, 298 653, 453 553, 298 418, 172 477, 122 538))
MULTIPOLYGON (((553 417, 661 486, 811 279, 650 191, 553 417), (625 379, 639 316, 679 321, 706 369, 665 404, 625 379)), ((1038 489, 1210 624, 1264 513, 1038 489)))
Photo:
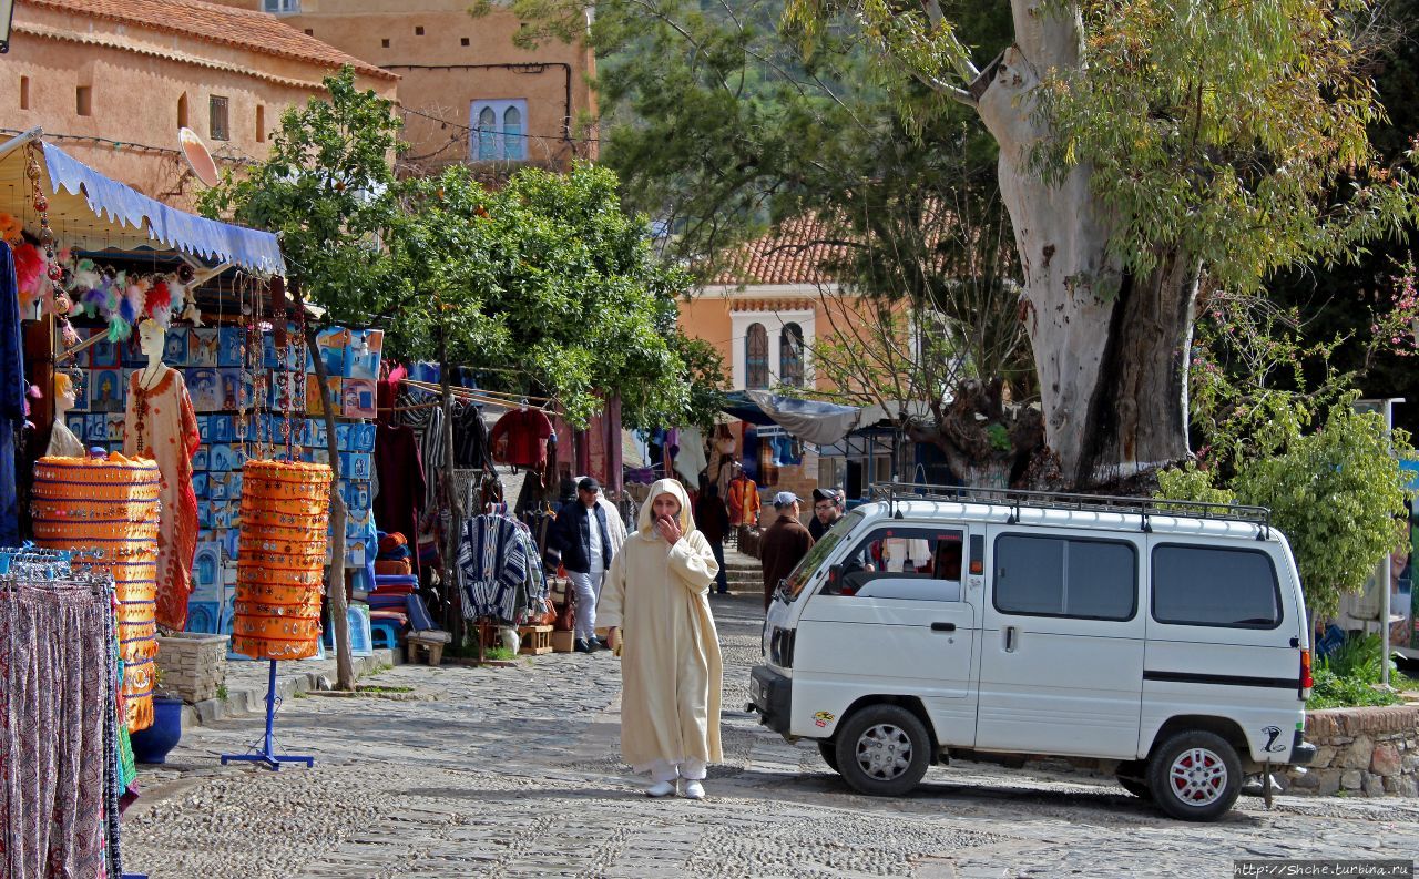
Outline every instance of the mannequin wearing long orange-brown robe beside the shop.
POLYGON ((182 373, 163 363, 166 336, 156 320, 138 325, 138 343, 148 356, 148 366, 133 373, 128 387, 123 454, 152 458, 162 474, 156 617, 158 625, 182 631, 187 624, 192 563, 197 553, 192 457, 201 440, 182 373))

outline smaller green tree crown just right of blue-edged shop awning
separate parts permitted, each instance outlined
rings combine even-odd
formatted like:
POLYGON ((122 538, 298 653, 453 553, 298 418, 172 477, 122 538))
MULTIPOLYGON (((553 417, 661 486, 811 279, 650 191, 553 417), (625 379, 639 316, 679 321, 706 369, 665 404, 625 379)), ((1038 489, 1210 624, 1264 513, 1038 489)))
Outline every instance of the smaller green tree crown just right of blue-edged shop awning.
POLYGON ((325 98, 282 113, 265 162, 245 177, 224 172, 199 208, 277 233, 302 296, 332 323, 362 325, 397 308, 380 241, 397 220, 390 160, 400 122, 392 101, 355 88, 349 67, 325 88, 325 98))

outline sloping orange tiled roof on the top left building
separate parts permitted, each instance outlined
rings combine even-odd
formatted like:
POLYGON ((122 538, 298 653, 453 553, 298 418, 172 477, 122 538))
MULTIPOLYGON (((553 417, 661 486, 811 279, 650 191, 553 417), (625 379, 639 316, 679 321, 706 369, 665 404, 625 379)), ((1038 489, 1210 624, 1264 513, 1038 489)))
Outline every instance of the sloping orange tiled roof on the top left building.
POLYGON ((248 9, 201 0, 20 0, 18 6, 139 24, 155 31, 332 68, 349 64, 356 72, 380 79, 399 78, 287 26, 275 16, 248 9))

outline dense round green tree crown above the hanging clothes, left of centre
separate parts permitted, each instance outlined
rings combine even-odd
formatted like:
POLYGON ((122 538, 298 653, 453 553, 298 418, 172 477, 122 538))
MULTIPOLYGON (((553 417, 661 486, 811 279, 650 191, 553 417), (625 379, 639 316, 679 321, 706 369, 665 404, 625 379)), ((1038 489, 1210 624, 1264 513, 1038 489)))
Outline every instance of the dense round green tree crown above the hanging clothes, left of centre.
POLYGON ((392 250, 406 302, 402 350, 488 370, 555 398, 573 424, 620 394, 631 427, 705 420, 719 364, 675 326, 678 269, 622 211, 609 169, 524 169, 501 190, 461 166, 403 190, 392 250))

